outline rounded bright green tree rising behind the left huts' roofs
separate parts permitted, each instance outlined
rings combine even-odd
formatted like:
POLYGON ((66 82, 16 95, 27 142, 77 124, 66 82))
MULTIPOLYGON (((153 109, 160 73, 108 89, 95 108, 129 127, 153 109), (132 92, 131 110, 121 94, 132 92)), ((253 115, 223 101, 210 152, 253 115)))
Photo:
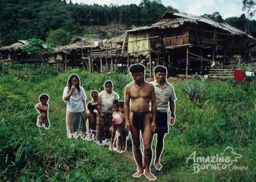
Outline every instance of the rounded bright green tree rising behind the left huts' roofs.
POLYGON ((50 30, 49 36, 46 38, 46 42, 54 44, 55 47, 67 45, 71 40, 70 33, 62 29, 50 30))

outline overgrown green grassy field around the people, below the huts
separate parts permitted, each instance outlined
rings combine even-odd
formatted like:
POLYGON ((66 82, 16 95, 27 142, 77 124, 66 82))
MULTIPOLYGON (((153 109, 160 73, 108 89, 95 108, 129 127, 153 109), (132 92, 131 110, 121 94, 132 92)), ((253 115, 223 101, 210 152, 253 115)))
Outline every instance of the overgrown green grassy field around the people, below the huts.
MULTIPOLYGON (((28 68, 29 70, 29 68, 28 68)), ((103 90, 110 79, 113 90, 124 100, 124 87, 132 79, 127 75, 89 74, 72 70, 68 74, 44 71, 20 72, 15 69, 1 73, 0 78, 0 179, 1 181, 148 181, 145 176, 133 178, 137 165, 129 151, 119 154, 108 146, 98 146, 82 138, 67 138, 66 110, 62 93, 70 74, 80 76, 88 103, 91 90, 103 90), (34 106, 39 95, 47 93, 50 129, 37 127, 38 113, 34 106)), ((192 81, 196 83, 201 81, 192 81)), ((195 100, 184 95, 184 85, 173 83, 176 91, 176 123, 165 136, 165 148, 154 167, 156 181, 256 181, 256 78, 244 82, 208 79, 203 83, 203 95, 195 100), (231 146, 236 154, 230 152, 231 146), (230 170, 214 170, 186 158, 196 151, 196 157, 217 157, 225 153, 233 161, 230 170), (241 157, 242 155, 242 157, 241 157), (234 157, 234 158, 233 158, 234 157), (200 172, 193 165, 200 165, 200 172), (235 166, 235 169, 233 169, 235 166), (236 167, 247 167, 238 169, 236 167), (195 169, 194 169, 195 168, 195 169), (194 174, 192 174, 194 173, 194 174)), ((153 151, 155 150, 154 137, 153 151)), ((155 154, 155 151, 154 151, 155 154)), ((220 162, 222 165, 225 162, 220 162)), ((230 162, 226 162, 226 165, 230 162)))

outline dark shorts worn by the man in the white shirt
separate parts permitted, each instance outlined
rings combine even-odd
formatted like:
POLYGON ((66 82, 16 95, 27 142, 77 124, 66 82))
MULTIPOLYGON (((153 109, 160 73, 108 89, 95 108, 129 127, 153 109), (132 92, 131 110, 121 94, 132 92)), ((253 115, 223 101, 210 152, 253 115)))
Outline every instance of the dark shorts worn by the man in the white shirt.
POLYGON ((168 113, 157 112, 156 124, 157 129, 153 132, 154 134, 168 133, 168 113))

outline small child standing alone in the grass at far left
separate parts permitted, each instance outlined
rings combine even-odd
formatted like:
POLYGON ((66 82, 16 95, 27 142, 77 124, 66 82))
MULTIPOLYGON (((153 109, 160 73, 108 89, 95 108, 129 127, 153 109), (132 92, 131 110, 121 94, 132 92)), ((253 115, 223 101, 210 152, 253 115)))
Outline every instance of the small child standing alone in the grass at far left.
POLYGON ((40 114, 40 116, 37 117, 37 126, 39 127, 45 127, 45 130, 48 130, 50 127, 50 121, 48 119, 48 104, 49 96, 47 94, 42 94, 39 96, 39 102, 35 106, 37 109, 37 112, 40 114))

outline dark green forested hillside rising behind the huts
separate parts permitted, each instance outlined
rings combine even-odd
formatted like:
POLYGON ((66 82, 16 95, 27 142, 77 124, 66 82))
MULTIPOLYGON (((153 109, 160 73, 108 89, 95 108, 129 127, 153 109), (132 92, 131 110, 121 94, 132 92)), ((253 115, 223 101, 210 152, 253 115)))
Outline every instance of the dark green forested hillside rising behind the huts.
MULTIPOLYGON (((242 8, 242 7, 241 7, 242 8)), ((142 0, 139 5, 87 5, 72 4, 71 0, 4 0, 0 1, 0 44, 7 39, 37 38, 46 40, 50 30, 61 28, 72 36, 97 34, 98 38, 110 39, 116 35, 102 31, 102 28, 89 26, 121 24, 130 27, 150 25, 165 12, 178 12, 173 7, 165 7, 160 0, 142 0)), ((211 19, 229 23, 245 31, 248 22, 245 15, 229 17, 225 20, 214 12, 208 15, 211 19)), ((256 36, 255 20, 250 22, 250 33, 256 36)))

